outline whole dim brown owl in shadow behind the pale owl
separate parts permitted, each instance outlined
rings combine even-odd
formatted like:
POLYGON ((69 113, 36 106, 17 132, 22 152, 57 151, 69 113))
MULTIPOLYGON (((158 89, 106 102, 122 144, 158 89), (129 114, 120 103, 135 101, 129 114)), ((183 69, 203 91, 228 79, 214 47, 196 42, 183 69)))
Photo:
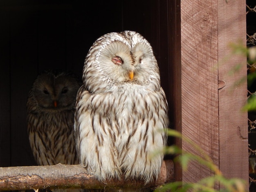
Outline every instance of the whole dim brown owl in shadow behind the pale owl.
POLYGON ((40 74, 27 100, 29 142, 38 165, 79 164, 74 143, 74 106, 81 86, 70 72, 40 74))

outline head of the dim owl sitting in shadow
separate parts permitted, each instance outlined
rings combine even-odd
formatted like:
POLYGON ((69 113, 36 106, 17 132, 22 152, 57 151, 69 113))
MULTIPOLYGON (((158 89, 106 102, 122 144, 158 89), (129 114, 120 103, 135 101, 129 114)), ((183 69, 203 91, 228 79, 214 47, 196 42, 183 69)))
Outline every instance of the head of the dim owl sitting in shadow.
POLYGON ((71 72, 50 70, 38 75, 31 94, 41 109, 72 109, 80 86, 81 82, 71 72))

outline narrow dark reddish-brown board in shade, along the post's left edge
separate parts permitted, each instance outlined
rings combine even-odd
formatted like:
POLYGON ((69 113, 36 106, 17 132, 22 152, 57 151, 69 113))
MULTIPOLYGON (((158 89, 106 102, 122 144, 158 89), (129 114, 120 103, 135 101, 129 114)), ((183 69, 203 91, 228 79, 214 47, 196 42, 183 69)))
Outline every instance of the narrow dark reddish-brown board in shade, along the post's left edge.
MULTIPOLYGON (((171 128, 182 132, 182 96, 181 96, 181 20, 180 0, 168 0, 168 51, 169 51, 169 111, 171 128)), ((181 139, 175 138, 173 142, 182 147, 181 139)), ((175 163, 175 181, 182 181, 182 167, 175 163)))

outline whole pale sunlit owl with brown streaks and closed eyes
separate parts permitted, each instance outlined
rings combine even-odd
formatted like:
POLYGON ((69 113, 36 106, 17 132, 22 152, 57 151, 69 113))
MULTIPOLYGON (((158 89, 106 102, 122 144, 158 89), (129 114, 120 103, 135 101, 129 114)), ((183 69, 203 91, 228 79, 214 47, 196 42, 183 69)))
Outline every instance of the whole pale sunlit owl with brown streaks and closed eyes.
POLYGON ((157 179, 168 104, 149 42, 135 31, 98 38, 83 67, 74 130, 81 165, 100 181, 157 179), (153 155, 156 154, 156 155, 153 155))

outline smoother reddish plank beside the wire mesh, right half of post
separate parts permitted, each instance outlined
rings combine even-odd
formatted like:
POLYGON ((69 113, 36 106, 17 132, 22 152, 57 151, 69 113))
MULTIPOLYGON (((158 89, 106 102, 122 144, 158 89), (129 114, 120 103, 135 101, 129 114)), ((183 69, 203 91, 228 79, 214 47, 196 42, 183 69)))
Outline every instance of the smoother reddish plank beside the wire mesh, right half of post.
POLYGON ((226 85, 219 90, 220 170, 227 177, 248 181, 247 113, 241 108, 247 100, 246 57, 230 55, 229 43, 246 46, 246 7, 244 0, 218 0, 218 73, 226 85), (229 72, 237 65, 236 73, 229 72))

